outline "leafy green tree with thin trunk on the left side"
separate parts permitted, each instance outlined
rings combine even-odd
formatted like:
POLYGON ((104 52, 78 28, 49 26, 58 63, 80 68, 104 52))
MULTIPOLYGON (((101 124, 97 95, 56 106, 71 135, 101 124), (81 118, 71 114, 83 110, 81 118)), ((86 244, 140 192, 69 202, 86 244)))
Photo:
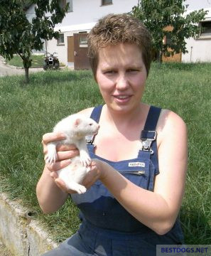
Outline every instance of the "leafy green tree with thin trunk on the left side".
POLYGON ((59 0, 0 0, 0 55, 10 60, 18 54, 23 60, 26 82, 31 67, 32 50, 42 50, 44 40, 58 38, 55 24, 65 17, 68 4, 63 8, 59 0), (35 17, 28 21, 23 8, 36 4, 35 17), (45 14, 48 14, 46 16, 45 14))

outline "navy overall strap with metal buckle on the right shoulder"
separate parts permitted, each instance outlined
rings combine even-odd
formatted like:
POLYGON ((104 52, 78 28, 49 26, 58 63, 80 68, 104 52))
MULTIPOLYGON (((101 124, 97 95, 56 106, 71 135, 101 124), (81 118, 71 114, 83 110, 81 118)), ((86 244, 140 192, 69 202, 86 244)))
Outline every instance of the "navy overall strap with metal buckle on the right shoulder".
MULTIPOLYGON (((150 152, 150 158, 156 169, 156 174, 158 174, 158 151, 156 143, 156 126, 158 123, 158 118, 161 114, 161 108, 151 106, 148 111, 148 116, 146 117, 146 123, 144 130, 141 131, 141 141, 142 141, 142 153, 150 152)), ((140 153, 141 153, 140 151, 140 153)))

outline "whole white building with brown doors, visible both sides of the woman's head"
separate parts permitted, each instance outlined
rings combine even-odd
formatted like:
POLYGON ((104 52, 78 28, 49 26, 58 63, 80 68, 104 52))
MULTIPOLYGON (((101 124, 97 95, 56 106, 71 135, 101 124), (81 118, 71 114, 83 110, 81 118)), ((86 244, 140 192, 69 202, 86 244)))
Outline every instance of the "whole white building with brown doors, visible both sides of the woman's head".
MULTIPOLYGON (((60 0, 64 6, 69 3, 69 10, 63 22, 55 26, 60 31, 58 40, 47 42, 49 53, 58 53, 61 63, 75 69, 89 68, 87 58, 87 33, 99 18, 109 13, 119 14, 131 11, 138 4, 138 0, 60 0)), ((205 21, 199 23, 202 28, 200 38, 187 40, 186 54, 175 55, 173 61, 205 62, 211 61, 211 0, 186 0, 189 4, 188 12, 205 9, 209 13, 205 21)), ((46 14, 48 15, 48 14, 46 14)), ((168 58, 167 61, 171 61, 168 58)))

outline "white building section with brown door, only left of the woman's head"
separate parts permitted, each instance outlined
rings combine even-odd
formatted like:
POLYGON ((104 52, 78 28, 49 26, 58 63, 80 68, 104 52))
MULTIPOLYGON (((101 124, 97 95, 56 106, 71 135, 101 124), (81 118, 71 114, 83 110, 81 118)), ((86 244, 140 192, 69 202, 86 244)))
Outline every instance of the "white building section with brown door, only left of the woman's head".
POLYGON ((87 59, 87 33, 97 20, 109 13, 127 13, 138 0, 61 0, 69 2, 69 10, 63 22, 55 26, 60 30, 59 40, 47 43, 49 53, 58 53, 61 63, 75 69, 89 68, 87 59))

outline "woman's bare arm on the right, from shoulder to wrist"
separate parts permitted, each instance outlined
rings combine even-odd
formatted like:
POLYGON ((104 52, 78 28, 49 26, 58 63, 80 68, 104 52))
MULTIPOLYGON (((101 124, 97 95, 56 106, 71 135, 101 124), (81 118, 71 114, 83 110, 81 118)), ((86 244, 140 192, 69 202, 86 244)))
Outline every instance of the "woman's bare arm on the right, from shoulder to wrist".
POLYGON ((160 174, 156 176, 153 192, 131 183, 108 164, 96 162, 102 169, 102 183, 117 201, 141 223, 163 235, 175 223, 183 198, 187 139, 183 120, 173 112, 163 115, 161 124, 164 127, 159 132, 160 174))

